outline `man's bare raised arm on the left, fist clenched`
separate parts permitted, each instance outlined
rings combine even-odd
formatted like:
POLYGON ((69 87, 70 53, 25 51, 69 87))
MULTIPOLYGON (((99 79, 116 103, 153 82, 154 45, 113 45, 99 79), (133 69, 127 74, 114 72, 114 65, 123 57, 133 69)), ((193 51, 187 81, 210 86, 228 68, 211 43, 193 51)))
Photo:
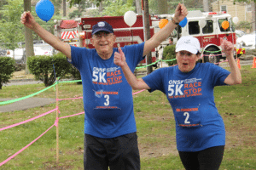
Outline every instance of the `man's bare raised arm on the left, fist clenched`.
POLYGON ((44 42, 49 43, 49 45, 61 51, 63 54, 67 55, 67 58, 71 59, 70 46, 65 42, 61 42, 58 37, 55 37, 49 31, 46 31, 42 26, 40 26, 30 12, 24 12, 21 14, 20 22, 24 26, 32 29, 32 31, 35 31, 38 36, 44 40, 44 42))

